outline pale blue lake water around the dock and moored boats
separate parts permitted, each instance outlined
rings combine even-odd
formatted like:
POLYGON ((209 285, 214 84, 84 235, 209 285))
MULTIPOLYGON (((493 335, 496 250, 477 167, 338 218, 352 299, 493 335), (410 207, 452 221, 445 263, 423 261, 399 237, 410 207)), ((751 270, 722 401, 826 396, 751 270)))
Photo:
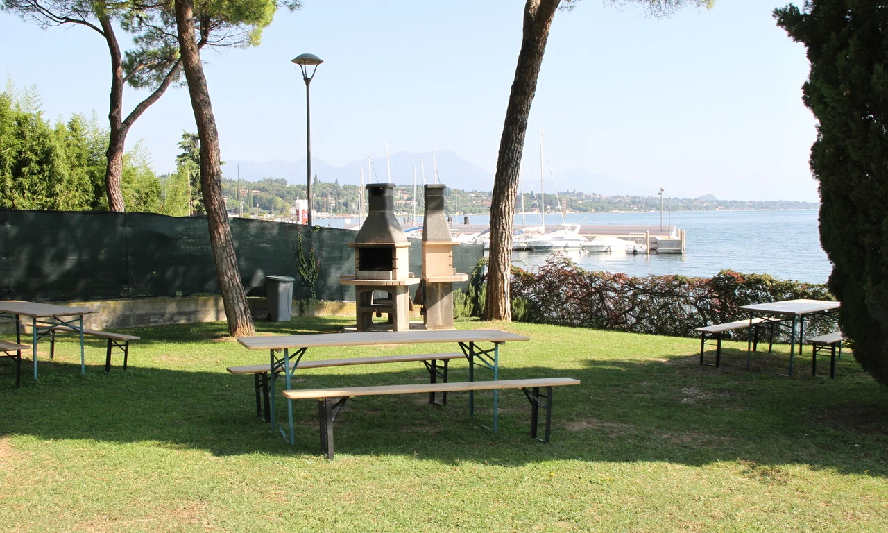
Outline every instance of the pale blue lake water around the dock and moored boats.
MULTIPOLYGON (((663 224, 667 213, 663 213, 663 224)), ((472 216, 472 224, 487 224, 488 216, 472 216)), ((659 212, 571 213, 567 222, 583 224, 638 224, 659 226, 659 212)), ((460 217, 462 221, 462 217, 460 217)), ((517 224, 521 217, 516 217, 517 224)), ((719 270, 746 274, 771 274, 801 282, 826 282, 832 266, 821 248, 816 210, 797 211, 678 211, 670 221, 687 232, 686 252, 646 255, 568 252, 568 257, 587 270, 606 270, 630 275, 682 274, 710 277, 719 270)), ((322 226, 342 227, 342 221, 320 219, 322 226)), ((527 215, 528 225, 538 225, 539 215, 527 215)), ((546 224, 558 229, 561 216, 546 215, 546 224)), ((515 251, 512 262, 523 268, 542 265, 544 252, 515 251)))

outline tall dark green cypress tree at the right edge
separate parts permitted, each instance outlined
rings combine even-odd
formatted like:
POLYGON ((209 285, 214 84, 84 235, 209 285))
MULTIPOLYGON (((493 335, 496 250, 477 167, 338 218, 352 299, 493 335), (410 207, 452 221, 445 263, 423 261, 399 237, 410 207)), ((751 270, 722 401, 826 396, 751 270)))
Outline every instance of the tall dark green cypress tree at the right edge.
POLYGON ((888 6, 808 0, 774 16, 811 61, 803 87, 818 120, 811 170, 840 325, 860 365, 888 385, 888 6))

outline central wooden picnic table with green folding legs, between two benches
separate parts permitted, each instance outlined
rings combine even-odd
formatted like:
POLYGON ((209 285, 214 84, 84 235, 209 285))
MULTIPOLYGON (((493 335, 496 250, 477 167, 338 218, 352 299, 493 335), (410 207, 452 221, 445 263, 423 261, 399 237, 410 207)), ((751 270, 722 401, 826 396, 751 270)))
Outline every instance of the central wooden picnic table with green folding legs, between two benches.
MULTIPOLYGON (((529 338, 499 330, 410 330, 410 331, 376 331, 348 333, 313 333, 308 335, 274 335, 264 337, 239 337, 239 342, 248 350, 268 350, 269 370, 271 371, 271 424, 274 421, 274 382, 279 373, 286 380, 286 390, 290 390, 293 373, 299 361, 309 348, 336 346, 379 346, 404 344, 429 344, 456 342, 469 362, 469 380, 474 381, 475 366, 493 371, 494 380, 499 378, 499 346, 506 342, 527 341, 529 338), (492 343, 488 349, 482 349, 479 343, 492 343), (290 353, 292 350, 292 353, 290 353), (282 356, 279 356, 281 353, 282 356)), ((494 391, 494 422, 493 430, 497 430, 497 408, 499 394, 494 391)), ((474 392, 469 393, 469 413, 474 417, 474 392)), ((295 442, 293 426, 293 400, 287 399, 287 415, 289 418, 289 443, 295 442)))

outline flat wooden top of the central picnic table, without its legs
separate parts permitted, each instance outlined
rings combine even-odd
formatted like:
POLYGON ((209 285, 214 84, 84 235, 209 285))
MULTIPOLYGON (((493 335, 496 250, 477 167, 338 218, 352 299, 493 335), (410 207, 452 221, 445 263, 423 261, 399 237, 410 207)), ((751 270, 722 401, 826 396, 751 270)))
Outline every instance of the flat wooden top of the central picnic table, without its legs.
POLYGON ((308 335, 274 335, 238 337, 237 342, 248 350, 281 350, 320 346, 372 346, 432 342, 495 342, 530 340, 523 335, 499 330, 411 330, 355 333, 312 333, 308 335))

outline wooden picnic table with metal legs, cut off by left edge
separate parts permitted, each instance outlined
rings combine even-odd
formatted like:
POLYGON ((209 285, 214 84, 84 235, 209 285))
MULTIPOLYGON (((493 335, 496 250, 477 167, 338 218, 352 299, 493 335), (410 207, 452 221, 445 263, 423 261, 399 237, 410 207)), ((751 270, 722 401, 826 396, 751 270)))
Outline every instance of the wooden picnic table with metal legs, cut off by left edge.
POLYGON ((0 300, 0 316, 12 316, 15 321, 15 341, 21 343, 21 317, 31 319, 31 353, 34 359, 34 380, 37 379, 37 340, 56 326, 67 326, 80 333, 80 373, 86 373, 83 360, 83 315, 95 313, 89 307, 57 306, 23 300, 0 300), (64 317, 72 317, 66 320, 64 317))

